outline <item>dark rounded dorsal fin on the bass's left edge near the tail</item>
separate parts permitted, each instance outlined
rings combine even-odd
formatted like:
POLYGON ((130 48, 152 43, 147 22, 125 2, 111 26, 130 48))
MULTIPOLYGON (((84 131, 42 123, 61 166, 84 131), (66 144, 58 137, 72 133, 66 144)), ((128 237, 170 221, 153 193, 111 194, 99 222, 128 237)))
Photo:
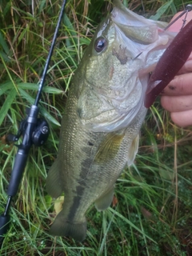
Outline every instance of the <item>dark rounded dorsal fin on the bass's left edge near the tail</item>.
POLYGON ((53 166, 50 167, 46 178, 46 190, 53 198, 58 198, 62 194, 61 178, 59 177, 60 168, 61 162, 57 158, 53 166))

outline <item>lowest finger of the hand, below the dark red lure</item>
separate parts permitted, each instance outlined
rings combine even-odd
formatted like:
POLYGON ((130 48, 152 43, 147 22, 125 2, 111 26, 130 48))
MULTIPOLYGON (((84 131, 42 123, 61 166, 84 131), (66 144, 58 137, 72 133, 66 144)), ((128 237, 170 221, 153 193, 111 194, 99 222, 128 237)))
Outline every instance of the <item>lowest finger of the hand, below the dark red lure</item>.
POLYGON ((173 112, 170 114, 170 117, 173 122, 180 127, 192 125, 192 110, 173 112))

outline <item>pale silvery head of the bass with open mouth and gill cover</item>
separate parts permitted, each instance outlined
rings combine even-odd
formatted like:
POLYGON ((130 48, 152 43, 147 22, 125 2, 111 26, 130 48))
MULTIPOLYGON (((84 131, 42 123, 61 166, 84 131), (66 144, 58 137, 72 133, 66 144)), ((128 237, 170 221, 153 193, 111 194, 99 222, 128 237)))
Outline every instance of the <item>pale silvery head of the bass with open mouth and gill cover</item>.
POLYGON ((87 130, 123 129, 142 109, 147 70, 154 67, 173 38, 159 24, 114 2, 114 10, 98 26, 82 59, 84 82, 77 111, 87 130), (99 38, 105 38, 106 48, 98 53, 94 46, 99 38))

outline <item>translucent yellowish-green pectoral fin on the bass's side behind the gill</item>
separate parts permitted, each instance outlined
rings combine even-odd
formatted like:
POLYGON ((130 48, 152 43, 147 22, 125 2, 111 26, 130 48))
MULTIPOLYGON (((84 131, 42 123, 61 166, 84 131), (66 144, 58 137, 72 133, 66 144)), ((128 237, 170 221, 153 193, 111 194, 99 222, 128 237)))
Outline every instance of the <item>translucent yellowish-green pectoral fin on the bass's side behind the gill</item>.
POLYGON ((94 158, 94 162, 102 163, 110 161, 118 154, 119 147, 121 146, 124 133, 115 134, 110 133, 106 135, 106 138, 102 141, 98 147, 98 152, 94 158))

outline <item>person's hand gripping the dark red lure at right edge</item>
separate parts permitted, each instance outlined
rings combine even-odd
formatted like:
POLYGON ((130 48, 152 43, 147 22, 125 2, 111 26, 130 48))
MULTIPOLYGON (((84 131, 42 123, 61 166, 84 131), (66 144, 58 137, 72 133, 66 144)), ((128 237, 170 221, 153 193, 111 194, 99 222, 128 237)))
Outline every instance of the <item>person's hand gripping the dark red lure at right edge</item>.
MULTIPOLYGON (((179 14, 175 14, 174 18, 179 14)), ((170 26, 169 30, 179 31, 182 27, 182 19, 183 16, 170 26)), ((191 19, 192 11, 188 13, 186 22, 191 19)), ((170 117, 175 124, 181 127, 192 125, 192 54, 178 75, 163 90, 161 103, 166 110, 170 111, 170 117)))

